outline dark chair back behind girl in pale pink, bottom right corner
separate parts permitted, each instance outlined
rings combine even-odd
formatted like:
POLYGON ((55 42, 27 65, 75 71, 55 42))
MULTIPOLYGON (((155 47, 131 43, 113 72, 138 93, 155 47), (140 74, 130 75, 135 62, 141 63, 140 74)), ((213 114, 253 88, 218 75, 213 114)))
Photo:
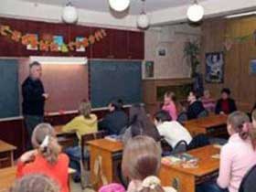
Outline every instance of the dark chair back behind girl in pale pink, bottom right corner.
POLYGON ((250 171, 243 177, 240 183, 239 192, 256 191, 256 165, 252 166, 250 171))

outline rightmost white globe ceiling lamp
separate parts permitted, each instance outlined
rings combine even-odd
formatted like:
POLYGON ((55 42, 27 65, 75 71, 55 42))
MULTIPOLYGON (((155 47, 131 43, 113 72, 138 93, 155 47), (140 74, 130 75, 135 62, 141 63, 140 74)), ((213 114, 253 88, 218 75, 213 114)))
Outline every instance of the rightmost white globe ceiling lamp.
POLYGON ((187 18, 192 22, 200 21, 204 16, 204 7, 199 5, 197 0, 193 5, 190 5, 187 9, 187 18))

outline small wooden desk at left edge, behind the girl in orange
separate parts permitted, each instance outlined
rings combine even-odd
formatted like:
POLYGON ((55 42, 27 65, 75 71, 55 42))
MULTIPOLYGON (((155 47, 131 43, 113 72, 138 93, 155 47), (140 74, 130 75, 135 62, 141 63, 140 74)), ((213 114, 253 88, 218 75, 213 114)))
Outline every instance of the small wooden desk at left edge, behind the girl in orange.
POLYGON ((0 168, 14 165, 14 151, 16 146, 0 140, 0 168))

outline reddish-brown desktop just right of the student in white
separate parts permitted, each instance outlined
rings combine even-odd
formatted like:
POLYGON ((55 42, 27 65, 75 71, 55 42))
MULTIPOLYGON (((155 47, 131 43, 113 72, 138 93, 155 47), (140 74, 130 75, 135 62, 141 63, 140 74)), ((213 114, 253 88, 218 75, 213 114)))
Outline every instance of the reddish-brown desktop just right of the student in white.
POLYGON ((220 125, 226 125, 228 120, 227 115, 209 115, 208 117, 203 117, 200 119, 195 119, 195 120, 189 120, 185 122, 185 127, 186 126, 197 126, 197 127, 202 127, 202 128, 211 128, 215 126, 220 126, 220 125))

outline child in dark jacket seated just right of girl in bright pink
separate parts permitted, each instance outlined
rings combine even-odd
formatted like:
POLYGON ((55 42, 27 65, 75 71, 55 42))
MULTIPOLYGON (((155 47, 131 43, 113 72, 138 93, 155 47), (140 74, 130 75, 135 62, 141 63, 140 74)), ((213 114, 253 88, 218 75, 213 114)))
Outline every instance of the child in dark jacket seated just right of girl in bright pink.
POLYGON ((198 96, 195 92, 190 91, 189 95, 187 97, 188 101, 188 107, 187 107, 187 118, 189 120, 191 119, 197 119, 198 115, 201 112, 206 112, 203 103, 201 101, 198 101, 198 96))

